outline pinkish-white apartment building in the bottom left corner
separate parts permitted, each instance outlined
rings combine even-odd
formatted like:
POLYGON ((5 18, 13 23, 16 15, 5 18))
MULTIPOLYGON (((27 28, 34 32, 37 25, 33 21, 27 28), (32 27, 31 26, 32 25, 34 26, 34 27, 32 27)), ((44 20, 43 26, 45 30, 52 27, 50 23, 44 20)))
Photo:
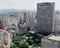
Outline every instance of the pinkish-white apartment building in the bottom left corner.
POLYGON ((0 29, 0 47, 10 48, 10 44, 10 33, 8 33, 6 30, 0 29))

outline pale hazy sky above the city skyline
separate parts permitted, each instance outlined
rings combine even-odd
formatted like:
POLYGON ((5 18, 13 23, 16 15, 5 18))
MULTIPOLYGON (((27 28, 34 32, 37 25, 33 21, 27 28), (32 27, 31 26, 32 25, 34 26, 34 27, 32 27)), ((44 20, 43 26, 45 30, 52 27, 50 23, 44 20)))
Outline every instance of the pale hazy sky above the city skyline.
POLYGON ((36 10, 41 2, 55 2, 56 10, 60 10, 60 0, 0 0, 0 9, 36 10))

